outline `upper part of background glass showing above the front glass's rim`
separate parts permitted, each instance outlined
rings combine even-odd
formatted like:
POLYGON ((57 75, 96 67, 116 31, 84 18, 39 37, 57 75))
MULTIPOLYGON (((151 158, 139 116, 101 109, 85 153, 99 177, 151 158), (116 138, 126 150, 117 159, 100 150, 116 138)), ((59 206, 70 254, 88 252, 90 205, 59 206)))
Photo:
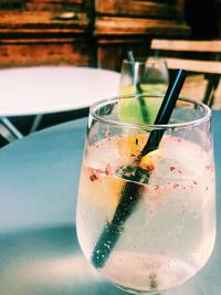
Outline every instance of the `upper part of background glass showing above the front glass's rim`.
POLYGON ((138 59, 122 63, 119 94, 164 95, 169 84, 169 72, 165 61, 157 57, 138 59))

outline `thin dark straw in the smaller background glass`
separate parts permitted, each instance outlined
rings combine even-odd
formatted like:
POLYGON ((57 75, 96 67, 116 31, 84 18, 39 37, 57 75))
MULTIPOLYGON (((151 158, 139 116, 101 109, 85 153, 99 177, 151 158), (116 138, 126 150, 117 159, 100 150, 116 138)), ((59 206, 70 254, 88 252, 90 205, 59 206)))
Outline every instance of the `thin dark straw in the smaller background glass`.
POLYGON ((129 70, 130 70, 130 74, 131 74, 131 76, 134 78, 135 88, 136 88, 136 95, 138 94, 137 98, 138 98, 138 102, 139 102, 143 120, 144 120, 144 123, 149 123, 149 113, 147 110, 147 106, 146 106, 145 99, 144 99, 144 97, 141 95, 139 95, 139 94, 143 93, 143 88, 141 88, 140 83, 138 81, 138 76, 137 76, 138 73, 136 73, 136 69, 135 69, 136 62, 135 62, 135 57, 134 57, 134 54, 133 54, 131 51, 127 52, 127 60, 128 60, 129 65, 130 65, 129 70))

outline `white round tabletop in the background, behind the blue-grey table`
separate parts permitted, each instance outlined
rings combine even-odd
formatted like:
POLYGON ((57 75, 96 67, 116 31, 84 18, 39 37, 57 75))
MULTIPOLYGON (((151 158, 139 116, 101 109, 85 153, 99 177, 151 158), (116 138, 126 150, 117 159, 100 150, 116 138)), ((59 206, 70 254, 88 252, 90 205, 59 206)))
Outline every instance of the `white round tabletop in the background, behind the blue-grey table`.
POLYGON ((88 107, 118 94, 119 73, 77 66, 0 70, 0 116, 35 115, 88 107))

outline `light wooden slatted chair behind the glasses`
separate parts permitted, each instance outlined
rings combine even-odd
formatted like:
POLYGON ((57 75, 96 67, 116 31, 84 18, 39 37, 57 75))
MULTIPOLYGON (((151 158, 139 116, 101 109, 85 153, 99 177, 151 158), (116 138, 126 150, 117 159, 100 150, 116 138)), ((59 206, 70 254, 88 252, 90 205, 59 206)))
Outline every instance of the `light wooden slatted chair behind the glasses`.
MULTIPOLYGON (((215 91, 221 75, 221 40, 192 41, 192 40, 162 40, 152 39, 150 51, 155 56, 167 62, 169 70, 185 69, 189 72, 190 83, 199 86, 201 74, 207 83, 202 102, 209 106, 214 103, 215 91)), ((220 97, 221 101, 221 97, 220 97)), ((221 108, 221 102, 219 102, 221 108)))

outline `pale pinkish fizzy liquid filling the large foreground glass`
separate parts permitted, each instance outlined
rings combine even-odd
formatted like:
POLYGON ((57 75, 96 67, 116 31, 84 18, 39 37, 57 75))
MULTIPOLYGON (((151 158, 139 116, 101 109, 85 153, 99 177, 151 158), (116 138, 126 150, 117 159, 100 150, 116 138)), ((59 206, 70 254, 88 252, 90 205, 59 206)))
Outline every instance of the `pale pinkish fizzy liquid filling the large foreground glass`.
MULTIPOLYGON (((87 147, 76 222, 88 260, 128 181, 116 170, 141 149, 143 137, 136 136, 138 147, 131 147, 134 138, 114 137, 87 147)), ((164 136, 152 162, 149 182, 141 185, 141 198, 99 268, 115 284, 135 292, 169 289, 193 276, 207 263, 215 238, 211 152, 186 139, 164 136)), ((149 165, 147 159, 143 167, 149 165)))

